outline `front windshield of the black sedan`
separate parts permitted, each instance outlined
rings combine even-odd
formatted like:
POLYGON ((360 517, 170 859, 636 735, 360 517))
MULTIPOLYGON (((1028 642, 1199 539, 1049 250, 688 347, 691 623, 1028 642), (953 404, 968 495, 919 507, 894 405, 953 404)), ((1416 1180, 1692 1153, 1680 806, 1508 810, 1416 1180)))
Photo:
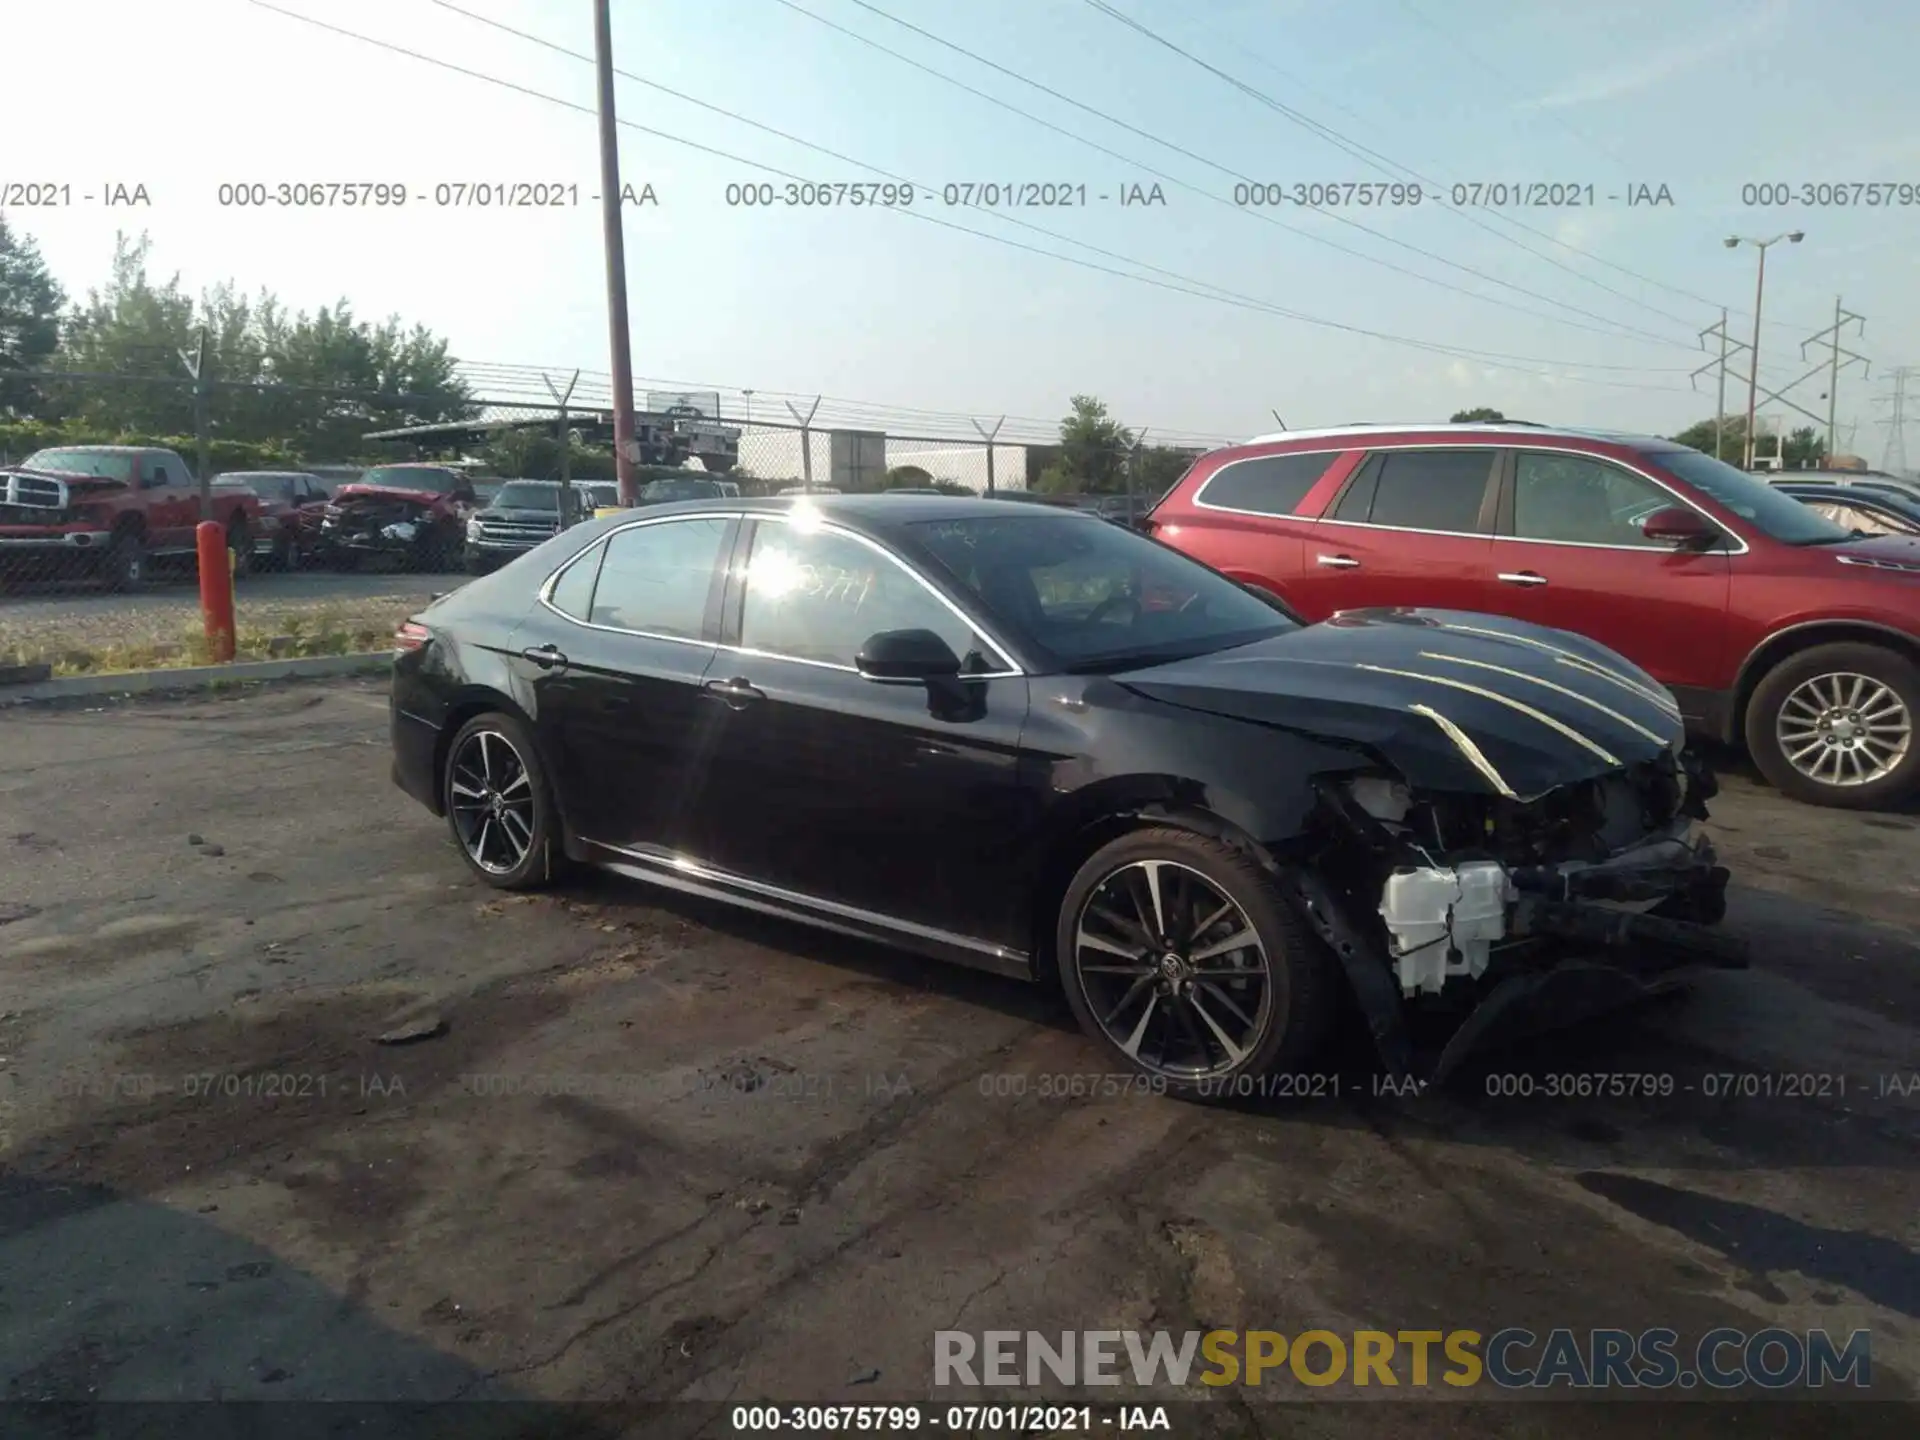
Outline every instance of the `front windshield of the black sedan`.
POLYGON ((970 515, 916 520, 908 534, 1062 670, 1210 655, 1298 624, 1198 561, 1092 516, 970 515))

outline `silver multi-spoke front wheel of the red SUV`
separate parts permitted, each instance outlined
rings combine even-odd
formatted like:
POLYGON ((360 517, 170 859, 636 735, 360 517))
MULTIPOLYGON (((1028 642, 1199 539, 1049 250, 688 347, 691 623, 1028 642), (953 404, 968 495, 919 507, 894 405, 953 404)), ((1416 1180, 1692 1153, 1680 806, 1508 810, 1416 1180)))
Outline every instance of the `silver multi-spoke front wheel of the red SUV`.
POLYGON ((1920 789, 1920 668, 1868 643, 1814 645, 1747 703, 1747 751, 1782 795, 1878 810, 1920 789))

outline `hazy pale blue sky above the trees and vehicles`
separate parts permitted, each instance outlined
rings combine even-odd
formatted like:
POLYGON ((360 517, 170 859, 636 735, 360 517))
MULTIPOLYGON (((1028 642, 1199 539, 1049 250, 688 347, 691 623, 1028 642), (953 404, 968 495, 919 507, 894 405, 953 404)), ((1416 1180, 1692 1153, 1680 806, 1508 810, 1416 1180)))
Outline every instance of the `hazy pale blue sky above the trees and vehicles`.
MULTIPOLYGON (((609 369, 589 0, 0 17, 15 58, 50 58, 8 67, 0 200, 71 186, 8 209, 69 292, 146 230, 190 290, 346 298, 482 367, 609 369), (282 182, 407 202, 223 204, 282 182), (520 182, 564 204, 440 204, 520 182), (104 204, 115 184, 150 204, 104 204)), ((1075 394, 1148 442, 1471 405, 1670 434, 1715 411, 1690 372, 1720 307, 1753 338, 1759 252, 1724 240, 1795 228, 1766 252, 1763 392, 1818 363, 1801 342, 1841 300, 1868 365, 1841 372, 1839 434, 1878 459, 1874 397, 1920 363, 1920 6, 1899 0, 612 0, 612 50, 622 180, 655 198, 624 207, 641 388, 751 388, 756 415, 820 394, 933 436, 1010 417, 1031 438, 1075 394), (780 204, 803 180, 912 182, 912 204, 780 204), (760 184, 776 204, 739 204, 760 184), (989 188, 1041 184, 1075 204, 989 188), (1592 204, 1511 204, 1542 186, 1592 204)), ((1824 417, 1824 392, 1788 397, 1824 417)))

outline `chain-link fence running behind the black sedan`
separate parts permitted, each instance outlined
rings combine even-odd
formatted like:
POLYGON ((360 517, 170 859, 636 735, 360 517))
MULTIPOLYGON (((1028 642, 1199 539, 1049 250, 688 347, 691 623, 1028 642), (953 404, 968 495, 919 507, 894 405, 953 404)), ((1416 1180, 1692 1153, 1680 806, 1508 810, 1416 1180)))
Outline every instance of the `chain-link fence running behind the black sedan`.
MULTIPOLYGON (((71 424, 0 419, 0 672, 207 660, 196 559, 204 518, 228 541, 238 659, 380 649, 434 593, 618 505, 611 411, 557 403, 561 394, 545 405, 478 397, 470 419, 371 428, 351 459, 311 461, 230 440, 217 422, 196 436, 108 444, 71 424)), ((394 397, 378 399, 371 415, 392 415, 394 397)), ((989 440, 998 426, 973 424, 973 438, 931 424, 897 434, 845 405, 837 419, 810 422, 791 403, 795 419, 768 420, 747 419, 745 397, 639 399, 641 505, 804 490, 1037 497, 1060 455, 1031 438, 989 440)), ((1165 488, 1140 457, 1139 445, 1112 457, 1108 488, 1123 476, 1127 493, 1048 499, 1127 518, 1165 488)))

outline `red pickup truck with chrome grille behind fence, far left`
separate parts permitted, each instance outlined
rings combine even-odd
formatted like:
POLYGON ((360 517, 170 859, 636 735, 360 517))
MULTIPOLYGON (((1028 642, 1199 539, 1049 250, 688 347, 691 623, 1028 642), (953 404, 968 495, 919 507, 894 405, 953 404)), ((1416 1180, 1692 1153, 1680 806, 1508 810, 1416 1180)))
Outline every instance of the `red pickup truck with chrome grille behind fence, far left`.
MULTIPOLYGON (((253 566, 267 528, 259 497, 215 490, 234 572, 253 566)), ((200 484, 171 449, 56 445, 0 470, 0 582, 96 576, 138 589, 156 559, 192 557, 200 484)))

